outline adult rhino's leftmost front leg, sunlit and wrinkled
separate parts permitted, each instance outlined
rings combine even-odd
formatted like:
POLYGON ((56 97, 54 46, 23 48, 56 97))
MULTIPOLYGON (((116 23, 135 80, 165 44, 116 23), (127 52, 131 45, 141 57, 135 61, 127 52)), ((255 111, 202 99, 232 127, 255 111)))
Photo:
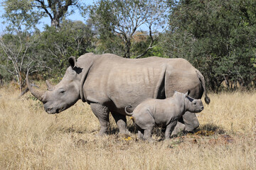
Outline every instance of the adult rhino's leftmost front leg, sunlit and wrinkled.
POLYGON ((110 127, 110 110, 99 103, 91 103, 92 112, 100 121, 100 132, 97 135, 106 135, 110 127))

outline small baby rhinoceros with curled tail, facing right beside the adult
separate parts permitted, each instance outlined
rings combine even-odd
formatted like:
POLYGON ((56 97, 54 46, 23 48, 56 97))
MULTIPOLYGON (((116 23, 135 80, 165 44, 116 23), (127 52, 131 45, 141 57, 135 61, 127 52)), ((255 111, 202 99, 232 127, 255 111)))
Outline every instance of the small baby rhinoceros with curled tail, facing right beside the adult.
POLYGON ((154 125, 166 127, 165 138, 169 139, 171 132, 174 130, 179 118, 186 112, 198 113, 203 111, 203 103, 201 99, 194 99, 186 94, 178 91, 174 92, 174 96, 165 99, 149 98, 140 103, 132 113, 124 111, 127 115, 132 116, 134 124, 139 128, 138 137, 144 140, 151 139, 151 131, 154 125))

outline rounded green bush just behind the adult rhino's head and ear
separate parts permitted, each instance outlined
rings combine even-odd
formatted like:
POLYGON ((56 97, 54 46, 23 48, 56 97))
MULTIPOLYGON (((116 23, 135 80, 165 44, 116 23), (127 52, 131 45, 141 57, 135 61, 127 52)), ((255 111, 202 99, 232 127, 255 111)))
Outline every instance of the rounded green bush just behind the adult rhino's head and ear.
POLYGON ((81 21, 65 20, 58 30, 46 26, 36 47, 37 55, 47 61, 48 73, 58 77, 69 66, 68 57, 93 52, 93 37, 91 26, 81 21))

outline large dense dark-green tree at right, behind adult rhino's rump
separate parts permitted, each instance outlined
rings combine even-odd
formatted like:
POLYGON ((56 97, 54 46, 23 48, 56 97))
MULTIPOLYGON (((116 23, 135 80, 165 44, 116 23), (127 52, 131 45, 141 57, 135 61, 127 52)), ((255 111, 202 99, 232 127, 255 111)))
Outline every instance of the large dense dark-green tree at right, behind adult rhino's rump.
POLYGON ((255 1, 182 0, 171 5, 166 55, 189 60, 213 91, 223 81, 231 88, 249 87, 256 76, 255 1))

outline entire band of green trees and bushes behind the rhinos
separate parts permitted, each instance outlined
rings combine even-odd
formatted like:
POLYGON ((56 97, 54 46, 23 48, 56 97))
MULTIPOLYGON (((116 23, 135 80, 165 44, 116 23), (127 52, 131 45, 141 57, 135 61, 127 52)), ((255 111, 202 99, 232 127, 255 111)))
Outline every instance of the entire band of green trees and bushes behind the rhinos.
POLYGON ((132 58, 185 58, 213 91, 219 91, 223 81, 231 89, 255 86, 256 1, 167 2, 168 8, 161 0, 100 0, 87 8, 90 18, 85 24, 65 20, 75 8, 85 7, 77 0, 4 0, 2 18, 8 27, 0 38, 1 75, 22 85, 31 68, 42 73, 39 79, 61 79, 68 57, 110 52, 132 58), (169 10, 169 29, 163 33, 160 27, 169 10), (36 24, 43 16, 52 22, 41 32, 36 24))

